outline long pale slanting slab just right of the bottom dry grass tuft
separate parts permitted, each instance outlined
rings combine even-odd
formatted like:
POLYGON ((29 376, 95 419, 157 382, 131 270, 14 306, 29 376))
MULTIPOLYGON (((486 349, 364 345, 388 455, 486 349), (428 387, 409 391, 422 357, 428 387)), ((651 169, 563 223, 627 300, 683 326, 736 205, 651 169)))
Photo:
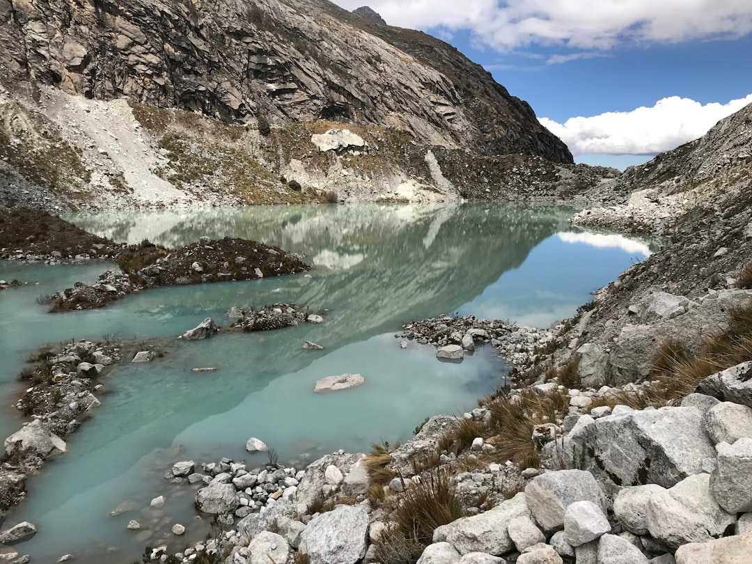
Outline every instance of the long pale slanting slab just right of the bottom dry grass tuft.
POLYGON ((508 533, 510 521, 515 517, 530 515, 525 500, 526 495, 518 493, 485 513, 437 527, 433 532, 433 541, 446 541, 463 555, 484 552, 502 556, 514 549, 514 542, 508 533))

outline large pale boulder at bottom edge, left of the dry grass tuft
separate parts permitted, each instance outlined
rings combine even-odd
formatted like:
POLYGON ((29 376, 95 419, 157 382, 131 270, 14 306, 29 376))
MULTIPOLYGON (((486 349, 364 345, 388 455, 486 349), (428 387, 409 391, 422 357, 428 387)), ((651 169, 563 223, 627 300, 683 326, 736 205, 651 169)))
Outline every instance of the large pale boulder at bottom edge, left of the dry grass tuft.
POLYGON ((311 564, 355 564, 365 556, 368 514, 359 507, 338 505, 317 515, 302 532, 300 550, 311 564))

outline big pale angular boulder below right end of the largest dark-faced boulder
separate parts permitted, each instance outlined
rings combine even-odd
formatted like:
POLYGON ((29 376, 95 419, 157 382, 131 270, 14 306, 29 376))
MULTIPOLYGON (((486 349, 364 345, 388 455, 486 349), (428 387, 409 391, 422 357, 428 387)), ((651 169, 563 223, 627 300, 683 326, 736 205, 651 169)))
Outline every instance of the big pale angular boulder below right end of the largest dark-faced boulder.
POLYGON ((736 522, 715 501, 708 474, 690 476, 655 493, 647 502, 646 520, 650 536, 672 549, 720 537, 736 522))

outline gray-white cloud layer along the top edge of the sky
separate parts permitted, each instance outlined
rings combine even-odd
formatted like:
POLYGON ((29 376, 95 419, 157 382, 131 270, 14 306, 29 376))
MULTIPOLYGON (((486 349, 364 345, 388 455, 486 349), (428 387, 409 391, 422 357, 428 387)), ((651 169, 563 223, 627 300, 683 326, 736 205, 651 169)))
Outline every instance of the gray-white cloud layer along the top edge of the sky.
POLYGON ((510 50, 560 44, 604 50, 619 44, 741 37, 752 31, 749 0, 335 0, 367 3, 387 23, 417 29, 469 29, 484 44, 510 50))

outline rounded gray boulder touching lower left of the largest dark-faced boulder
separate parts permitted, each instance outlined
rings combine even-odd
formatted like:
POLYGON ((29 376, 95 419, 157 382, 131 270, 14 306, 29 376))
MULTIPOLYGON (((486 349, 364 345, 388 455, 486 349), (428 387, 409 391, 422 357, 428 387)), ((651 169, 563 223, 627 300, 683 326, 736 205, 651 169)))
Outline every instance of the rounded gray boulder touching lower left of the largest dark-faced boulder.
POLYGON ((525 496, 533 517, 544 531, 562 529, 566 508, 571 503, 589 501, 602 511, 606 509, 600 486, 590 472, 582 470, 546 472, 527 485, 525 496))

